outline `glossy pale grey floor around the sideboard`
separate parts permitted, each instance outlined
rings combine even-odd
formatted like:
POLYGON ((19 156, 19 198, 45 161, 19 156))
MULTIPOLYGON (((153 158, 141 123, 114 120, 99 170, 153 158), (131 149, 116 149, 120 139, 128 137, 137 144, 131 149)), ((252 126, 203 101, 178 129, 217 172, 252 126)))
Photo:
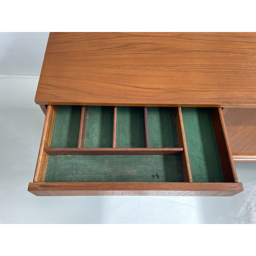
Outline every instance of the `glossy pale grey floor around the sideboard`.
POLYGON ((44 125, 38 78, 0 76, 0 223, 256 223, 256 163, 236 163, 232 197, 37 197, 33 181, 44 125))

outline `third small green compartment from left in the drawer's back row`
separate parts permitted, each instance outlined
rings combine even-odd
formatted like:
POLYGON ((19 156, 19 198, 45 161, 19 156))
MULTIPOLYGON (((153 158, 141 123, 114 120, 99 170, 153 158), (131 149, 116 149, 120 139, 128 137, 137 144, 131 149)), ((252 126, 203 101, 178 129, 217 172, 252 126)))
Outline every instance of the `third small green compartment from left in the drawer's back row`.
POLYGON ((117 107, 116 148, 143 148, 143 107, 117 107))

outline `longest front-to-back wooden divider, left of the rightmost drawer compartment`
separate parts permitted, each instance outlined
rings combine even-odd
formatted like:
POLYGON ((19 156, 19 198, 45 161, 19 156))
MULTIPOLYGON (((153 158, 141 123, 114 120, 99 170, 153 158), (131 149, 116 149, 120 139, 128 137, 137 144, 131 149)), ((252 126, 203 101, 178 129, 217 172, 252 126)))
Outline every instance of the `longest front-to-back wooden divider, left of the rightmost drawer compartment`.
POLYGON ((183 152, 180 154, 180 164, 183 175, 184 182, 192 182, 191 169, 188 158, 188 148, 185 137, 185 131, 183 126, 183 119, 181 108, 174 108, 174 120, 176 126, 177 140, 178 146, 184 148, 183 152))

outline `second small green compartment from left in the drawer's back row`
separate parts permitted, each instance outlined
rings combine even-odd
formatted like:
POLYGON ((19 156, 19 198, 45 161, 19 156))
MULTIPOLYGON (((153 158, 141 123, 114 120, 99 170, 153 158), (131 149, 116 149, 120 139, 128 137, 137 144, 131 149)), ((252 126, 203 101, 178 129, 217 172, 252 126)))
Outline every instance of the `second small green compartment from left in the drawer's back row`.
POLYGON ((112 148, 113 107, 88 106, 84 148, 112 148))

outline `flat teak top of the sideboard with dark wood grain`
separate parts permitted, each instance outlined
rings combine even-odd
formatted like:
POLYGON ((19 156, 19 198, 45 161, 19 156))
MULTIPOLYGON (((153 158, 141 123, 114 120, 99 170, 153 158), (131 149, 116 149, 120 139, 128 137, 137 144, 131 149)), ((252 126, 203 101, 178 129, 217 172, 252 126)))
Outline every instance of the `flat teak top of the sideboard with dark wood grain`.
POLYGON ((256 33, 50 33, 35 102, 256 108, 256 33))

